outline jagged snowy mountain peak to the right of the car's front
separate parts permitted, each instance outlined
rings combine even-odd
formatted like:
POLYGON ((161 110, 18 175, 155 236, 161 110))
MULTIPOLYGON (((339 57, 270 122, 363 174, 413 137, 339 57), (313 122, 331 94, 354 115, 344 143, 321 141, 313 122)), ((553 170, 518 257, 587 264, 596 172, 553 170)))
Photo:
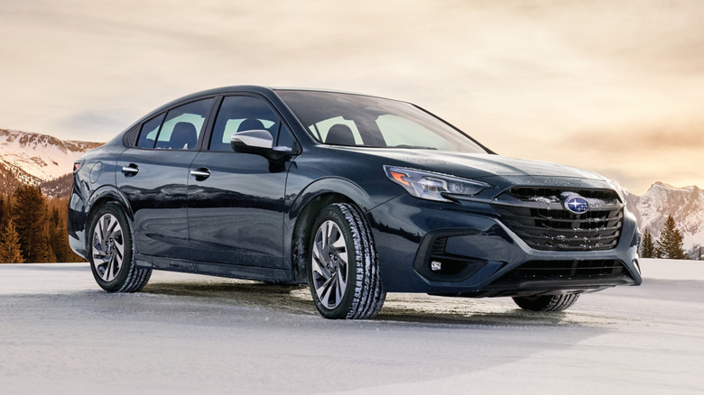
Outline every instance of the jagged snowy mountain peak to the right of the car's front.
POLYGON ((626 192, 628 211, 638 219, 638 229, 650 230, 653 237, 665 227, 667 216, 672 215, 682 234, 685 250, 704 244, 704 191, 696 186, 675 188, 656 182, 643 196, 626 192))

